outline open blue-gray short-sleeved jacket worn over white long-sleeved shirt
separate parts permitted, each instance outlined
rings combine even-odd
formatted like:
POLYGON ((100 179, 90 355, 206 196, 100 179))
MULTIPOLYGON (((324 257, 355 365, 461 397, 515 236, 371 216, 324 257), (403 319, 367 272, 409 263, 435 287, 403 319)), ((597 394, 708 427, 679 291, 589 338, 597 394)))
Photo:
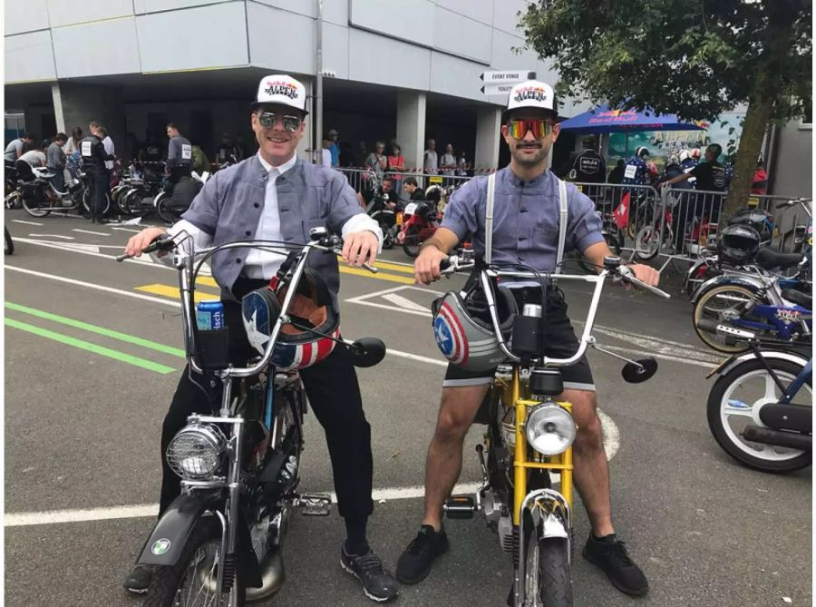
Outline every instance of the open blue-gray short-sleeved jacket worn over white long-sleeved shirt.
MULTIPOLYGON (((212 246, 253 239, 267 198, 267 178, 267 170, 257 156, 218 171, 181 218, 212 236, 212 246)), ((294 167, 277 176, 275 186, 280 232, 283 240, 293 245, 308 242, 312 228, 325 227, 339 235, 346 221, 364 213, 342 173, 299 158, 294 167)), ((244 269, 249 251, 228 249, 213 256, 212 275, 221 287, 222 297, 236 299, 232 286, 244 269)), ((325 280, 337 306, 340 273, 335 255, 313 252, 308 266, 325 280)))

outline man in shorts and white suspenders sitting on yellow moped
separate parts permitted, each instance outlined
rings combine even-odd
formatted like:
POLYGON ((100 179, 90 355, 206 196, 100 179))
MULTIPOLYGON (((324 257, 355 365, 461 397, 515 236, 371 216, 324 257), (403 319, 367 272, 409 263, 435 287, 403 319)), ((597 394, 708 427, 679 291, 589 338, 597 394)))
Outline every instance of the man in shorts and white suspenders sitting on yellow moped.
MULTIPOLYGON (((559 135, 558 105, 547 83, 527 81, 510 91, 502 113, 501 134, 510 147, 510 165, 496 173, 492 223, 492 263, 526 265, 547 272, 557 264, 558 251, 579 250, 598 267, 611 255, 601 235, 595 205, 572 184, 562 190, 547 168, 547 157, 559 135), (567 229, 559 247, 559 207, 566 198, 567 229)), ((440 262, 460 240, 473 234, 473 249, 485 253, 485 216, 491 181, 479 177, 456 191, 445 209, 442 226, 426 240, 414 263, 418 283, 440 278, 440 262)), ((659 275, 646 266, 631 266, 638 279, 655 285, 659 275)), ((520 304, 541 305, 540 289, 517 289, 520 304), (520 300, 522 298, 523 300, 520 300), (538 301, 535 299, 538 298, 538 301)), ((549 289, 546 300, 548 342, 545 355, 571 357, 578 339, 567 317, 563 293, 549 289)), ((450 365, 442 383, 442 403, 425 465, 425 512, 419 534, 397 563, 402 583, 418 583, 430 573, 433 560, 448 550, 442 528, 442 504, 451 494, 461 471, 464 436, 476 416, 495 369, 473 372, 450 365)), ((596 413, 595 385, 586 357, 561 369, 564 392, 556 400, 573 404, 578 425, 574 444, 575 484, 587 508, 592 531, 584 556, 607 573, 622 592, 644 594, 646 577, 627 555, 612 526, 609 473, 596 413)))

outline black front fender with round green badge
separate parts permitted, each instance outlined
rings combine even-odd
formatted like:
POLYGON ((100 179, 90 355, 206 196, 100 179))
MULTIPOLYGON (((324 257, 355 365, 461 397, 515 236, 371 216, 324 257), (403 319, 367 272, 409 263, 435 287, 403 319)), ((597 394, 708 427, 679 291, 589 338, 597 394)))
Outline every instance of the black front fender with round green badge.
POLYGON ((220 490, 180 494, 153 527, 136 562, 163 566, 178 563, 193 526, 219 499, 220 490))

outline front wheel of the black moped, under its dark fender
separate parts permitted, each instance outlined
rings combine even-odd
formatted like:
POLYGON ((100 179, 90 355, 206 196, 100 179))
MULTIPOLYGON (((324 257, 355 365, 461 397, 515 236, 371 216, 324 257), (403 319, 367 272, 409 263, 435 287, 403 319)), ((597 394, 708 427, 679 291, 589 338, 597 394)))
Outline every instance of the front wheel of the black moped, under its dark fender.
POLYGON ((144 600, 145 607, 228 607, 244 605, 247 589, 236 577, 228 594, 218 595, 221 566, 221 525, 205 517, 190 532, 179 563, 160 567, 144 600))

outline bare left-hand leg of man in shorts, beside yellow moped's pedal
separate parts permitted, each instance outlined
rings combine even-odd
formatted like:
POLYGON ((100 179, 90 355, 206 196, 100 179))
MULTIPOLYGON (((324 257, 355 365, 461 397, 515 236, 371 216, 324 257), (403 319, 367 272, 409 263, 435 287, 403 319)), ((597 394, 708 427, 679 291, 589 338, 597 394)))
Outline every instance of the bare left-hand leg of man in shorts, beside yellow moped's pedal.
POLYGON ((461 447, 489 384, 443 387, 436 431, 425 461, 425 515, 423 524, 442 529, 442 504, 461 472, 461 447))

